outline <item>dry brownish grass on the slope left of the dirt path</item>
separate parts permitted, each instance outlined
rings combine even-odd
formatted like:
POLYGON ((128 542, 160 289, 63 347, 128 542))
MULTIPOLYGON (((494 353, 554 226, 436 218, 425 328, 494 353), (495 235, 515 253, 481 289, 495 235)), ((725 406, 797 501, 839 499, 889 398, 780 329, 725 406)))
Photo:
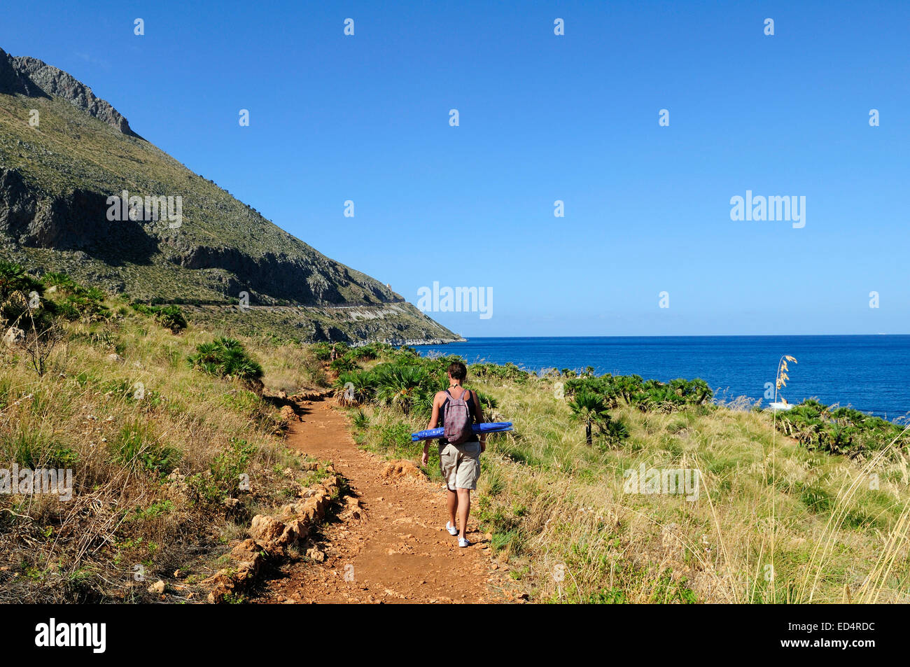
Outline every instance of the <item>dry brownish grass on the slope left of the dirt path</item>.
MULTIPOLYGON (((18 459, 72 468, 75 489, 68 502, 0 495, 0 601, 143 600, 148 583, 135 581, 138 568, 146 581, 189 572, 188 597, 249 512, 298 485, 277 409, 187 365, 198 343, 223 332, 191 327, 175 336, 120 312, 115 322, 69 327, 43 378, 5 351, 0 467, 18 459), (175 466, 183 480, 167 480, 175 466), (248 475, 248 492, 238 489, 239 474, 248 475), (241 507, 227 508, 227 497, 241 507)), ((242 342, 262 362, 268 388, 319 383, 305 349, 242 342)))

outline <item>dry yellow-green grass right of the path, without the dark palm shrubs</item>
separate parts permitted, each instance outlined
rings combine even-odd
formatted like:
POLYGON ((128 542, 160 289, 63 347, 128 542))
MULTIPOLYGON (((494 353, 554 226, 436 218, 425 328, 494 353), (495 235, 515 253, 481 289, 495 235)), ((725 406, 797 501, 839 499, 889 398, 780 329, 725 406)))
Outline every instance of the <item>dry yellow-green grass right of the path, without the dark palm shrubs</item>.
MULTIPOLYGON (((765 413, 621 408, 629 440, 589 447, 550 380, 468 384, 515 423, 490 438, 475 507, 534 601, 910 601, 905 438, 850 460, 775 433, 765 413), (698 499, 625 492, 642 463, 698 470, 698 499)), ((388 447, 402 418, 372 420, 359 439, 388 447)))

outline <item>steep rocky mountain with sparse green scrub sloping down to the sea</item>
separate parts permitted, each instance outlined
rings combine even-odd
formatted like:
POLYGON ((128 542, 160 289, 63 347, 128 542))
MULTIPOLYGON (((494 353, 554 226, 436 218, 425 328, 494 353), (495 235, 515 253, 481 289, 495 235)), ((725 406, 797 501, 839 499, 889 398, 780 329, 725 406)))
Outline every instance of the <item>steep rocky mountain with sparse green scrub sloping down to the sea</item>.
POLYGON ((138 136, 73 76, 2 49, 0 257, 130 298, 194 304, 213 326, 459 339, 138 136))

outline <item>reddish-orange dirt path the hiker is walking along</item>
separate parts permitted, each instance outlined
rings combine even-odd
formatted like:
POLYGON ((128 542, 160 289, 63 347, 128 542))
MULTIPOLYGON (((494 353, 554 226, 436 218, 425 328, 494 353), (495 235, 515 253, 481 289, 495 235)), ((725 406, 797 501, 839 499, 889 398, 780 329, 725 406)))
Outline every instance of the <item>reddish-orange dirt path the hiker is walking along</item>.
POLYGON ((423 478, 383 477, 386 461, 359 450, 333 401, 299 405, 288 445, 331 460, 360 510, 329 517, 316 536, 325 561, 285 565, 258 602, 504 602, 509 578, 492 559, 489 541, 469 520, 468 539, 444 530, 445 493, 423 478), (357 516, 359 514, 359 516, 357 516), (505 587, 505 589, 504 589, 505 587))

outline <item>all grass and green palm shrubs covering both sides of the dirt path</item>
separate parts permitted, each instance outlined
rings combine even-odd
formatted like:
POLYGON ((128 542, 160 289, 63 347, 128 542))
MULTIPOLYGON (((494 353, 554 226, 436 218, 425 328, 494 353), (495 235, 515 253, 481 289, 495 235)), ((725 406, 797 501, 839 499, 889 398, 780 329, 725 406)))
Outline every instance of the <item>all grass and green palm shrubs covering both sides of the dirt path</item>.
MULTIPOLYGON (((9 264, 0 298, 0 460, 75 472, 72 500, 0 494, 0 601, 147 601, 159 578, 198 600, 250 516, 328 474, 285 448, 285 394, 333 385, 362 447, 418 460, 410 433, 456 359, 381 343, 331 359, 9 264)), ((894 424, 718 405, 699 379, 473 364, 467 384, 515 424, 490 437, 474 512, 531 601, 908 601, 894 424)), ((441 481, 435 448, 427 473, 441 481)))

